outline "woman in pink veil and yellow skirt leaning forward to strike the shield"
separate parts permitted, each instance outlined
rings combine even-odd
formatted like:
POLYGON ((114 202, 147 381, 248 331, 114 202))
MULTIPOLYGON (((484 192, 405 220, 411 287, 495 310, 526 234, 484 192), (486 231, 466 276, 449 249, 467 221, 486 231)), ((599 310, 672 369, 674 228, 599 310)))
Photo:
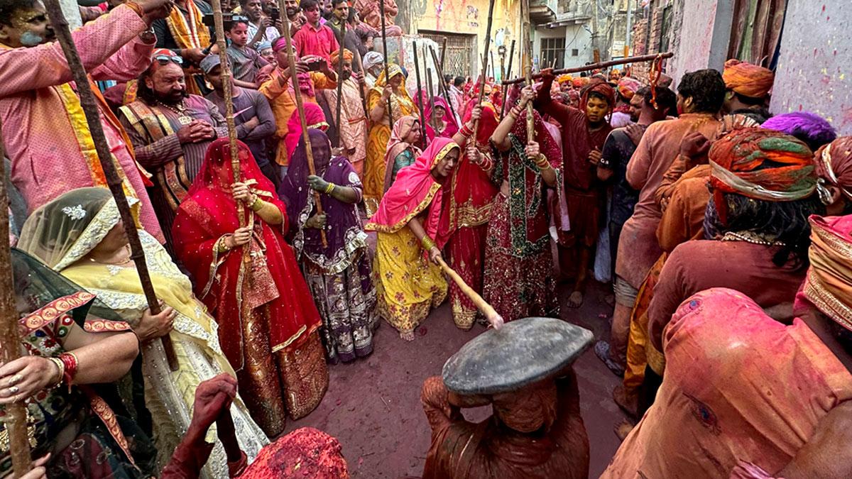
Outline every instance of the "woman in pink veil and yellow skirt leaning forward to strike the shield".
POLYGON ((454 141, 436 138, 414 164, 400 170, 365 227, 377 232, 373 269, 379 314, 406 341, 446 298, 446 280, 433 262, 446 244, 439 231, 441 199, 460 153, 454 141))

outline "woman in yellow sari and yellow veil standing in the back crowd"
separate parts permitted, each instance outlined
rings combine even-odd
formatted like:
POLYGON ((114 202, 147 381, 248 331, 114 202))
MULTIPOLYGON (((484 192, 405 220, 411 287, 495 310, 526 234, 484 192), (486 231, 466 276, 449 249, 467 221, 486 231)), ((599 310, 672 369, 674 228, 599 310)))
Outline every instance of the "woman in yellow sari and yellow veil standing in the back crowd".
POLYGON ((408 95, 400 66, 389 64, 388 77, 390 79, 386 80, 382 72, 376 80, 376 85, 367 94, 367 111, 372 121, 364 168, 364 205, 367 216, 376 212, 384 193, 384 156, 390 140, 390 125, 406 115, 417 114, 417 106, 408 95), (388 103, 394 115, 391 121, 388 119, 388 103))

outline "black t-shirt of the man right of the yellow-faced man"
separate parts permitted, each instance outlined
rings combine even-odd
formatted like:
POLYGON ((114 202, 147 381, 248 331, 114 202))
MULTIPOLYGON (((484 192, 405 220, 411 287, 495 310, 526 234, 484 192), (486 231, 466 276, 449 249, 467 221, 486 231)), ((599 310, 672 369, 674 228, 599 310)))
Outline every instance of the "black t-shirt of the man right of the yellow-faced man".
MULTIPOLYGON (((642 127, 646 128, 646 127, 642 127)), ((613 205, 609 211, 611 222, 624 224, 639 200, 639 192, 627 182, 627 164, 636 151, 636 145, 627 136, 624 128, 617 128, 607 136, 603 143, 602 159, 598 168, 613 171, 609 182, 613 185, 613 205)))

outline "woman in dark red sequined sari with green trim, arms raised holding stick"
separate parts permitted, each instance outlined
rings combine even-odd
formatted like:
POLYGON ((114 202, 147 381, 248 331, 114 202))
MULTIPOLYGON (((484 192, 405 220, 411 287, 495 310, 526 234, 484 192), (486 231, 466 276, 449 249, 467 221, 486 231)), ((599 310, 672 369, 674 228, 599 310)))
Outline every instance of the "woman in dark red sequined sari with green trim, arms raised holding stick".
POLYGON ((492 180, 500 185, 488 222, 482 296, 504 320, 559 317, 545 188, 561 188, 562 155, 533 110, 534 138, 527 138, 527 102, 521 93, 491 139, 500 152, 492 180))

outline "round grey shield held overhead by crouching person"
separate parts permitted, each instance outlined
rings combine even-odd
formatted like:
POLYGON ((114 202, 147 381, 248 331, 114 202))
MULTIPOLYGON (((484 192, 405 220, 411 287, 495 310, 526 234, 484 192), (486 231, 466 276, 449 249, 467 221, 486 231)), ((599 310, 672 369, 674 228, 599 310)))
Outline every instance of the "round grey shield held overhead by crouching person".
POLYGON ((547 378, 576 360, 594 336, 555 318, 524 318, 471 339, 444 363, 446 388, 496 394, 547 378))

